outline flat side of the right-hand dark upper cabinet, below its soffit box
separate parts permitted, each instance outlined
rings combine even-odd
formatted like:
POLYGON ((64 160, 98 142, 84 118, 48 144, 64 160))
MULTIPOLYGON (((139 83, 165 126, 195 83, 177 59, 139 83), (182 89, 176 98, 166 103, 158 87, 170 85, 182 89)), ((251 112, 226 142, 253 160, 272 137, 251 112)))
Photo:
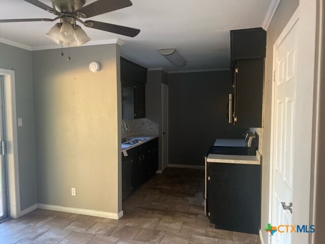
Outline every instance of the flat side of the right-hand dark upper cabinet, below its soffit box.
POLYGON ((264 58, 237 60, 235 123, 238 127, 262 127, 264 58))

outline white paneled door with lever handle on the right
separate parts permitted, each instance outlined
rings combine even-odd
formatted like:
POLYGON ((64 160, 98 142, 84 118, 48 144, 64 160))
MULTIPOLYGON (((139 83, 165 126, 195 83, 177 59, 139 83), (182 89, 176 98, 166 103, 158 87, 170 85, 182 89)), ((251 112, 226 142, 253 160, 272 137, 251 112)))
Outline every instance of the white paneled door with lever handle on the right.
MULTIPOLYGON (((291 225, 282 203, 293 202, 294 113, 296 104, 298 22, 275 51, 273 113, 272 226, 291 225)), ((290 244, 290 233, 274 233, 272 243, 290 244)))

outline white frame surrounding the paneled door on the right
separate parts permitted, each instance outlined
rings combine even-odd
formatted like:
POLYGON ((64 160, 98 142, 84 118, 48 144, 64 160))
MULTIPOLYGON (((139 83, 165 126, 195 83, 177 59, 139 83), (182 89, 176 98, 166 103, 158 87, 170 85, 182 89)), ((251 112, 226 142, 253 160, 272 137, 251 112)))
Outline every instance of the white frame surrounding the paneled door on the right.
MULTIPOLYGON (((296 12, 288 21, 274 45, 279 45, 291 27, 299 20, 298 26, 298 67, 296 86, 295 113, 295 148, 294 150, 294 191, 293 191, 293 224, 312 224, 310 217, 312 130, 313 130, 313 98, 315 85, 315 42, 316 42, 316 6, 317 0, 300 0, 296 12), (298 109, 297 109, 298 108, 298 109), (297 167, 298 166, 298 167, 297 167)), ((275 47, 275 46, 274 46, 275 47)), ((275 68, 275 48, 273 49, 273 70, 275 68)), ((272 115, 274 114, 274 82, 272 81, 272 115)), ((271 153, 270 153, 270 185, 269 185, 269 223, 272 220, 272 187, 273 187, 273 131, 271 121, 271 153)), ((291 243, 310 243, 309 235, 293 234, 291 243)), ((269 238, 270 243, 270 238, 269 238)))

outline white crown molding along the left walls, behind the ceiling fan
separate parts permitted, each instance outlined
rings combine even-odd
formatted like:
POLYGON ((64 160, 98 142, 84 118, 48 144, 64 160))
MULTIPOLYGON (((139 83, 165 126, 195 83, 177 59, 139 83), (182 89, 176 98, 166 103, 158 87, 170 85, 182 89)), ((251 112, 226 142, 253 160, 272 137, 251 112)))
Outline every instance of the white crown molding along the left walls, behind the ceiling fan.
MULTIPOLYGON (((61 45, 48 45, 48 46, 38 46, 38 47, 30 47, 27 45, 23 45, 17 42, 13 42, 4 38, 0 38, 0 42, 8 44, 10 46, 14 46, 14 47, 19 47, 22 49, 26 49, 28 51, 39 51, 39 50, 49 50, 49 49, 58 49, 61 48, 61 45)), ((104 45, 104 44, 118 44, 120 46, 124 45, 125 42, 122 41, 119 38, 115 38, 115 39, 108 39, 108 40, 100 40, 100 41, 90 41, 88 43, 86 43, 85 45, 79 46, 79 47, 84 47, 84 46, 94 46, 94 45, 104 45)), ((64 47, 67 48, 67 47, 64 47)), ((74 47, 71 47, 74 48, 74 47)))

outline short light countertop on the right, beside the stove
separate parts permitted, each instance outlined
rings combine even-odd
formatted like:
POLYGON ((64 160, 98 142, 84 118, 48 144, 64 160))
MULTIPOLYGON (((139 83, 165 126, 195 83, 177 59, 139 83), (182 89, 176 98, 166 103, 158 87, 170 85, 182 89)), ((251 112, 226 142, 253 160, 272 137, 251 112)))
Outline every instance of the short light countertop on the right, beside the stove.
POLYGON ((207 162, 209 163, 227 163, 227 164, 261 164, 261 153, 256 151, 256 156, 245 155, 221 155, 209 154, 207 162))

